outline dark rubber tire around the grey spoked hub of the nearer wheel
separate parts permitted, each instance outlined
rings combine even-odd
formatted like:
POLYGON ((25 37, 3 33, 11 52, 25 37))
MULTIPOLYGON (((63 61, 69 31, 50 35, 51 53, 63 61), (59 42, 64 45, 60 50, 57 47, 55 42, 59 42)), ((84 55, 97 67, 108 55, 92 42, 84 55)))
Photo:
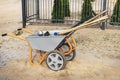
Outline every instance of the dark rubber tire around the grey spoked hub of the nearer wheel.
POLYGON ((61 54, 61 53, 60 53, 59 51, 57 51, 57 50, 54 50, 54 51, 49 52, 49 54, 47 55, 47 57, 46 57, 46 64, 47 64, 47 66, 48 66, 49 69, 51 69, 51 70, 53 70, 53 71, 59 71, 59 70, 62 70, 62 69, 65 68, 65 66, 66 66, 66 59, 65 59, 65 56, 64 56, 63 54, 61 54), (63 59, 63 66, 62 66, 60 69, 55 70, 55 69, 52 69, 52 68, 48 65, 48 61, 47 61, 47 60, 48 60, 48 56, 51 55, 52 53, 56 53, 56 54, 60 55, 61 58, 63 59))

